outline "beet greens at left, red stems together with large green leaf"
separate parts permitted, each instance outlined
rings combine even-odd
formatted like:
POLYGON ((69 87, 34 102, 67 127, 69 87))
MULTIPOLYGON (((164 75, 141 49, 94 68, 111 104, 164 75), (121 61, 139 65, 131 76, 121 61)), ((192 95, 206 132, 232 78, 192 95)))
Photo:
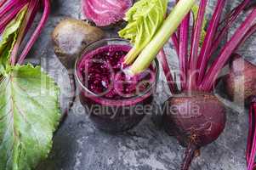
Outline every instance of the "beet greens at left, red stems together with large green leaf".
POLYGON ((49 8, 49 0, 0 1, 0 169, 37 167, 48 156, 60 122, 59 87, 40 66, 24 64, 49 8), (41 8, 41 20, 25 42, 41 8))

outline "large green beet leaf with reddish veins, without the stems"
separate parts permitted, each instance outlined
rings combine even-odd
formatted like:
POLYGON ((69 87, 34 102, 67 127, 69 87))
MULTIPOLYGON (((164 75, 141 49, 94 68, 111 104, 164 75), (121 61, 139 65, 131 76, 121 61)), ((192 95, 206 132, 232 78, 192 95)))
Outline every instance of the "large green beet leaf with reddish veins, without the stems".
POLYGON ((0 169, 31 170, 48 156, 60 90, 39 66, 16 65, 0 84, 0 169))

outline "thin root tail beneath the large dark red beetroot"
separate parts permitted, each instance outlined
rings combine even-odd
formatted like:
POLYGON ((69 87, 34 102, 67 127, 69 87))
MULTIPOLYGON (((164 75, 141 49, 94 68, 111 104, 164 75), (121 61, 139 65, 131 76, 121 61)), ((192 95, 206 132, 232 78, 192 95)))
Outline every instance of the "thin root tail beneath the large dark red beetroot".
POLYGON ((185 158, 183 160, 183 163, 181 165, 181 170, 188 170, 191 167, 191 162, 194 159, 195 152, 198 148, 195 144, 189 144, 188 147, 185 150, 185 158))

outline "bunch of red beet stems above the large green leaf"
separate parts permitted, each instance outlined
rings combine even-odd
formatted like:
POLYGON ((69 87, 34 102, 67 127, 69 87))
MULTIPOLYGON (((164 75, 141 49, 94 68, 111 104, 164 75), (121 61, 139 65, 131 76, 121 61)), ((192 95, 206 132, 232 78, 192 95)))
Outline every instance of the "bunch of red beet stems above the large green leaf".
POLYGON ((22 26, 20 27, 17 40, 14 44, 14 49, 12 50, 12 54, 10 57, 10 62, 12 65, 15 64, 23 64, 24 59, 26 59, 26 55, 29 53, 31 47, 36 42, 39 37, 41 31, 43 30, 43 26, 45 26, 46 21, 48 19, 48 14, 50 10, 49 0, 3 0, 0 3, 0 35, 3 33, 6 26, 9 25, 11 20, 20 13, 20 11, 24 8, 27 8, 25 18, 22 22, 22 26), (43 5, 43 16, 37 25, 36 30, 30 37, 30 40, 26 43, 26 47, 23 49, 22 53, 17 59, 18 51, 20 48, 20 44, 22 43, 24 37, 26 36, 27 31, 31 28, 31 25, 37 15, 40 5, 43 5))

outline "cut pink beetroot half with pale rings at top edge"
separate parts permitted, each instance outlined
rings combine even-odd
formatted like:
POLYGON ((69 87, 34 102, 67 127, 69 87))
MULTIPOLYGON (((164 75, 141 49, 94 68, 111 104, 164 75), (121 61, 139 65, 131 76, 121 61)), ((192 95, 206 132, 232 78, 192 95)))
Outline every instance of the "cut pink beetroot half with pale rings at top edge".
POLYGON ((83 14, 96 26, 110 26, 122 20, 133 0, 82 0, 83 14))

